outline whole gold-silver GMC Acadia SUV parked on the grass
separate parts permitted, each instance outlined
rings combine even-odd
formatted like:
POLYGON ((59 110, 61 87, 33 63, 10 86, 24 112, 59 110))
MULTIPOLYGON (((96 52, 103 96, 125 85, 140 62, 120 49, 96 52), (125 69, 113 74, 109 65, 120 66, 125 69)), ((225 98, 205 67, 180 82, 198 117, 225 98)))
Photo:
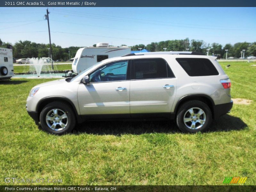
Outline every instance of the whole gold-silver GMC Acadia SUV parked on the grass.
POLYGON ((106 119, 175 119, 183 132, 205 130, 233 106, 230 80, 216 57, 148 52, 106 59, 73 78, 36 85, 28 114, 53 134, 106 119))

